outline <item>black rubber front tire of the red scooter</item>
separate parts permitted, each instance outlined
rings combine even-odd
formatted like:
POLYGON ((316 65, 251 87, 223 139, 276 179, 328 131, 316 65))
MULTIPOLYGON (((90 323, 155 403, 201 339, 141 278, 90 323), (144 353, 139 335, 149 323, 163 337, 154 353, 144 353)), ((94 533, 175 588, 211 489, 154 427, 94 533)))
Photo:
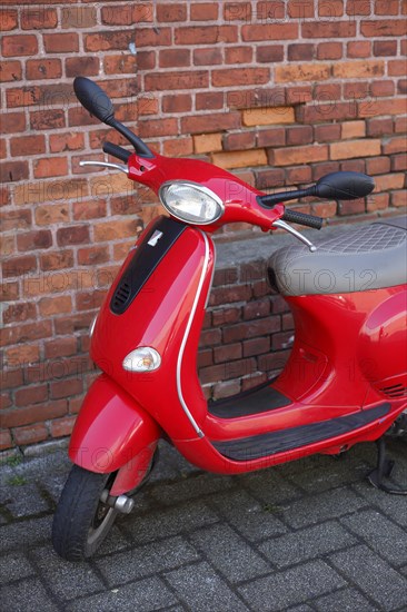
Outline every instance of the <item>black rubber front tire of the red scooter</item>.
POLYGON ((108 535, 118 513, 100 495, 111 487, 115 476, 72 466, 52 523, 52 544, 62 559, 88 559, 108 535))

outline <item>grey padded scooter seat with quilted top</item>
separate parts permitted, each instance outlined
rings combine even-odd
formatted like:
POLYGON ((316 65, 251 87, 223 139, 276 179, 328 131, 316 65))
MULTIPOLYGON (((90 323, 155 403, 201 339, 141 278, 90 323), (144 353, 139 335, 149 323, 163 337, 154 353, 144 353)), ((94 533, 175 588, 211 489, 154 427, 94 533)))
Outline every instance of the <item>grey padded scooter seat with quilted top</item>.
POLYGON ((315 253, 298 245, 270 257, 270 283, 282 295, 365 292, 407 282, 407 217, 344 228, 315 244, 315 253))

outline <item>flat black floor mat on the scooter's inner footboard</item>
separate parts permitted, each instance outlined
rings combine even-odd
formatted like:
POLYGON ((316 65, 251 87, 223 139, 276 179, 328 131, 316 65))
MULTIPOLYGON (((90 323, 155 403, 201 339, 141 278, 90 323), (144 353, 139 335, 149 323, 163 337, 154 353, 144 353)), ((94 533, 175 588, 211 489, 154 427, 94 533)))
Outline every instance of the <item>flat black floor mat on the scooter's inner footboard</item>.
POLYGON ((289 404, 291 401, 270 387, 270 382, 267 382, 227 399, 208 402, 208 411, 219 418, 236 418, 282 408, 289 404))

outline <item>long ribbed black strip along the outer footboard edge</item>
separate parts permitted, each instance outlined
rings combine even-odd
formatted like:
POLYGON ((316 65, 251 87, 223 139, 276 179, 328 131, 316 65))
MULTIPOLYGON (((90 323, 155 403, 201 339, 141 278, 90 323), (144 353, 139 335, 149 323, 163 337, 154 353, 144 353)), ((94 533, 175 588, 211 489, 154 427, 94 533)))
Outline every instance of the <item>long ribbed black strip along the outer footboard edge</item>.
POLYGON ((257 436, 225 442, 211 441, 219 453, 234 461, 256 460, 277 453, 292 451, 308 444, 343 435, 373 423, 388 414, 391 404, 385 403, 367 411, 339 416, 329 421, 290 427, 257 436))

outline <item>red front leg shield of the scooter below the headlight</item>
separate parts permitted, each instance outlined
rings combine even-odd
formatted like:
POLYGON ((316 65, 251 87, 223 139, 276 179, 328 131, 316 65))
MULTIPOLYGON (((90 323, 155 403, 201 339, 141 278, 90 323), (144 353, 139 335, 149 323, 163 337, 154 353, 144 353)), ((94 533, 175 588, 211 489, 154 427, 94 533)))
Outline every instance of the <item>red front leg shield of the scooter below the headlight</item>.
MULTIPOLYGON (((153 224, 146 228, 139 246, 151 234, 153 224)), ((122 272, 132 257, 130 253, 122 272)), ((206 416, 207 404, 197 378, 196 358, 214 259, 211 240, 199 229, 185 227, 120 315, 110 308, 121 277, 118 275, 92 335, 92 359, 173 440, 196 438, 206 416), (152 347, 160 354, 160 367, 148 373, 125 371, 126 356, 141 346, 152 347), (185 379, 187 372, 195 373, 193 381, 185 379)))

